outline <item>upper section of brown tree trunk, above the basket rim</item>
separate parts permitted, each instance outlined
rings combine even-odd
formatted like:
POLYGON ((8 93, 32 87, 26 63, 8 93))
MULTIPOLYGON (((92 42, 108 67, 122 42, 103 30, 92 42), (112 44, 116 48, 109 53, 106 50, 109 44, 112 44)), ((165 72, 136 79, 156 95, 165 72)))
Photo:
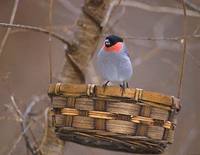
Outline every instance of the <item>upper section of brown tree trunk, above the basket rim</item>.
POLYGON ((100 39, 101 23, 110 2, 109 0, 85 1, 82 13, 76 22, 77 31, 74 33, 77 48, 74 52, 71 52, 71 50, 66 52, 67 61, 60 78, 62 82, 85 83, 86 74, 88 76, 88 64, 100 39))

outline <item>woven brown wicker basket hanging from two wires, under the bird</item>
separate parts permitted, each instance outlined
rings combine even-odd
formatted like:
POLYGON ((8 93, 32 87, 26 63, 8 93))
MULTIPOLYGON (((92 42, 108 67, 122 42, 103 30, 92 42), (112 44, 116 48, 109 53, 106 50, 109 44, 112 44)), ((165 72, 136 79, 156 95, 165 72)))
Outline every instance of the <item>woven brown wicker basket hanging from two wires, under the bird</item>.
POLYGON ((158 154, 173 143, 179 99, 142 89, 50 84, 57 136, 115 151, 158 154))

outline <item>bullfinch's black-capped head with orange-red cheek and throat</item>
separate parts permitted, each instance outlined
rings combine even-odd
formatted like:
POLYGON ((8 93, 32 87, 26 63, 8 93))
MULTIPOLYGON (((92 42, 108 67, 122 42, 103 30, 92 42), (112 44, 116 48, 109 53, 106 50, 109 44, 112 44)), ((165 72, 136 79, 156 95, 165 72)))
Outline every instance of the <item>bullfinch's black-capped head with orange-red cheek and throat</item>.
POLYGON ((122 48, 123 39, 116 35, 110 35, 105 38, 104 44, 106 51, 119 52, 122 48))

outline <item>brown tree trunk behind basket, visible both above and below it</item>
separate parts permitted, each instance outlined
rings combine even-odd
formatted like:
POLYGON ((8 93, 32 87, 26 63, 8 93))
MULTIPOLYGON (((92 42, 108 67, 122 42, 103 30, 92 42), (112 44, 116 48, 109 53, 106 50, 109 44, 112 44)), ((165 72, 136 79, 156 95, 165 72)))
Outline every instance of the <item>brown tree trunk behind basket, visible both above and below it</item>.
MULTIPOLYGON (((66 51, 61 82, 85 83, 87 67, 91 56, 96 50, 102 27, 100 26, 107 12, 110 0, 85 0, 82 13, 76 23, 76 32, 71 46, 66 51)), ((63 154, 64 142, 58 139, 49 126, 43 151, 48 155, 63 154)))

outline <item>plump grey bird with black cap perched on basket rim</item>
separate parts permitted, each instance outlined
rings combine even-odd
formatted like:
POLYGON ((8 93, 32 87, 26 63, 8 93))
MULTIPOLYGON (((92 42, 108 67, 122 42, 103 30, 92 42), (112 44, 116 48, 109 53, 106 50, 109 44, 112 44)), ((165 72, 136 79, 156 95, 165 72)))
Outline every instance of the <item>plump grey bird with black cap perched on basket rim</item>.
POLYGON ((109 35, 97 54, 97 70, 106 81, 119 83, 122 89, 128 88, 128 80, 132 77, 132 62, 128 49, 120 36, 109 35))

